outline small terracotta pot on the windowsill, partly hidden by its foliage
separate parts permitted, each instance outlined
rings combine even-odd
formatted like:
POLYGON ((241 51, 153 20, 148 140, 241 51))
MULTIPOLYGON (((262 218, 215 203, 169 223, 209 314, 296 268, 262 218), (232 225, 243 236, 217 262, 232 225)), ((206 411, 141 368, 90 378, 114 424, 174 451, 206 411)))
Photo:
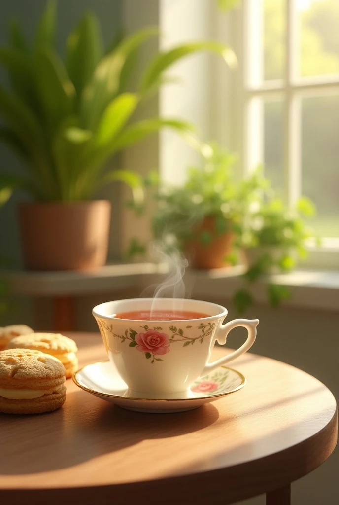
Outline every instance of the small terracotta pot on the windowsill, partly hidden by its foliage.
POLYGON ((194 230, 194 240, 187 241, 185 244, 185 254, 189 259, 192 268, 210 269, 223 268, 230 266, 225 262, 225 257, 231 254, 235 235, 233 232, 226 231, 218 234, 215 229, 215 218, 206 217, 201 225, 194 230), (202 243, 201 233, 207 231, 211 235, 211 241, 208 244, 202 243))

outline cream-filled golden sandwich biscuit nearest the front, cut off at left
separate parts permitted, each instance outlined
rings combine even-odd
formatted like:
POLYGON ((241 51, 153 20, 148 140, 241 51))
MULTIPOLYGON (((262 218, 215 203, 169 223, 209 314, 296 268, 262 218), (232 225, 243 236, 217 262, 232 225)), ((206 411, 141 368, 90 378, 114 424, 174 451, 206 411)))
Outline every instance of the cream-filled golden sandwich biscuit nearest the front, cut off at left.
POLYGON ((0 412, 41 414, 61 407, 66 399, 65 369, 39 350, 0 352, 0 412))

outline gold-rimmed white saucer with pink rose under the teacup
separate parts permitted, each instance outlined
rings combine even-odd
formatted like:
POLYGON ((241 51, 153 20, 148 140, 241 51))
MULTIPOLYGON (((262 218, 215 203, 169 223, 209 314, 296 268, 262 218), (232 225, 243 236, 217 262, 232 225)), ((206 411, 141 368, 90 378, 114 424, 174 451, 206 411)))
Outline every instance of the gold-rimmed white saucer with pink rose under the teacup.
POLYGON ((74 374, 73 380, 81 389, 115 403, 123 409, 150 413, 184 412, 197 409, 204 403, 238 391, 246 384, 245 377, 237 370, 219 367, 209 375, 199 377, 187 393, 176 393, 166 398, 150 398, 149 395, 128 389, 109 361, 87 365, 74 374))

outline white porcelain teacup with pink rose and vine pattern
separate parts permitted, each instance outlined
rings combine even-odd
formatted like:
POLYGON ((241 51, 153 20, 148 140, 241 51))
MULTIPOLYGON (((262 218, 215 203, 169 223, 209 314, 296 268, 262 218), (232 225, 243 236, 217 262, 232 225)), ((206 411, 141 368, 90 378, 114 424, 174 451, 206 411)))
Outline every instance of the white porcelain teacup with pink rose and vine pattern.
POLYGON ((157 310, 168 311, 176 304, 183 311, 208 314, 200 319, 141 321, 112 317, 135 310, 149 311, 152 304, 153 298, 117 300, 97 305, 92 311, 109 360, 133 391, 158 396, 185 392, 199 376, 230 363, 255 341, 258 319, 222 324, 227 309, 208 301, 156 300, 157 310), (247 329, 246 342, 231 354, 208 363, 215 341, 225 344, 227 335, 237 326, 247 329))

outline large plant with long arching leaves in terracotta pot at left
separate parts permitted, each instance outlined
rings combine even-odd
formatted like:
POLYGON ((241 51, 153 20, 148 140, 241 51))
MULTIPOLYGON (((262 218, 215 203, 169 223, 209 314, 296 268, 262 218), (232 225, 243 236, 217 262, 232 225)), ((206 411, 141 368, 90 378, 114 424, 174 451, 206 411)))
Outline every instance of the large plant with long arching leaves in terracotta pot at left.
POLYGON ((25 167, 21 174, 2 173, 0 190, 9 196, 21 188, 34 200, 20 208, 28 268, 83 269, 106 261, 110 203, 93 200, 97 190, 118 180, 132 187, 135 199, 142 197, 138 174, 112 170, 106 162, 163 126, 190 129, 168 118, 131 122, 136 108, 180 58, 207 49, 233 65, 235 56, 216 42, 181 45, 156 54, 136 91, 126 92, 135 53, 157 30, 146 28, 103 48, 98 22, 87 13, 68 37, 64 62, 54 45, 55 6, 47 4, 30 47, 14 22, 9 46, 0 48, 10 83, 0 86, 0 139, 25 167))

